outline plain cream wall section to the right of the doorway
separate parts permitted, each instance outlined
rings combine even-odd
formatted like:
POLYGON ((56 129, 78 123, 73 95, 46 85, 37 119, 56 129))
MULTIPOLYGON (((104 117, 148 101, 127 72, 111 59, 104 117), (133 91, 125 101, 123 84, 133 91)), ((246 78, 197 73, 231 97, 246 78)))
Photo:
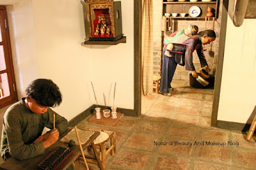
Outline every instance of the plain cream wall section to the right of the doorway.
POLYGON ((255 27, 255 19, 235 27, 228 17, 218 120, 246 123, 256 105, 255 27))

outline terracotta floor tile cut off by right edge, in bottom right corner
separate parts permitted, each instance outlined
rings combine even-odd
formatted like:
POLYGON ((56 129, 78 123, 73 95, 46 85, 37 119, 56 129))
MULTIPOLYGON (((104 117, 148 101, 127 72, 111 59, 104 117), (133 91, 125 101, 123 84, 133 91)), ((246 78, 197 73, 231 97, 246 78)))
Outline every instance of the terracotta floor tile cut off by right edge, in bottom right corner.
POLYGON ((238 149, 237 150, 237 156, 236 159, 233 160, 234 163, 237 164, 237 166, 245 166, 250 168, 256 167, 256 151, 255 150, 243 150, 238 149))

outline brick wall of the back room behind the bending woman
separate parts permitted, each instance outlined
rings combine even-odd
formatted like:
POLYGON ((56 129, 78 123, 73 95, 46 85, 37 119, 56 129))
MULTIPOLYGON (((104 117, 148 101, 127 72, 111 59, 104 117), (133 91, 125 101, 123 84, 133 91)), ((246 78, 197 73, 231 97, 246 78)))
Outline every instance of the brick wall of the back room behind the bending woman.
MULTIPOLYGON (((154 0, 154 75, 159 76, 161 74, 161 56, 162 56, 162 46, 163 46, 163 38, 168 36, 172 32, 166 31, 161 32, 161 17, 162 17, 162 1, 160 3, 159 0, 154 0)), ((220 8, 218 11, 221 11, 222 0, 220 1, 220 8)), ((211 73, 215 74, 216 65, 218 60, 218 50, 219 50, 219 34, 220 34, 220 19, 221 13, 219 13, 218 19, 214 22, 214 31, 216 32, 216 40, 213 41, 210 45, 206 45, 207 50, 204 52, 207 63, 211 68, 211 73)), ((186 29, 189 24, 197 25, 199 27, 199 31, 204 31, 205 29, 205 20, 175 20, 174 22, 174 31, 179 29, 186 29)), ((208 22, 207 22, 208 27, 208 22)), ((212 21, 209 22, 209 29, 212 29, 212 21)), ((193 53, 193 63, 196 68, 196 71, 200 69, 200 61, 198 59, 197 53, 193 53)), ((175 74, 173 76, 173 80, 189 80, 189 73, 191 71, 186 71, 185 67, 177 66, 175 74)))

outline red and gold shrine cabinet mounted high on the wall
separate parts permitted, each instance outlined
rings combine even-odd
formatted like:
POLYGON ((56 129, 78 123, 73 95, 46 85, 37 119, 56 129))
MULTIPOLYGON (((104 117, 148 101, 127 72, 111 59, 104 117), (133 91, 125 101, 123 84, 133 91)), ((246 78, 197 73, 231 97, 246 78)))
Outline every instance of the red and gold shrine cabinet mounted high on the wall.
MULTIPOLYGON (((87 3, 90 27, 89 41, 126 41, 122 32, 121 2, 114 0, 84 0, 87 3)), ((122 42, 124 43, 124 42, 122 42)), ((93 44, 97 44, 93 42, 93 44)), ((100 42, 99 44, 102 44, 100 42)))

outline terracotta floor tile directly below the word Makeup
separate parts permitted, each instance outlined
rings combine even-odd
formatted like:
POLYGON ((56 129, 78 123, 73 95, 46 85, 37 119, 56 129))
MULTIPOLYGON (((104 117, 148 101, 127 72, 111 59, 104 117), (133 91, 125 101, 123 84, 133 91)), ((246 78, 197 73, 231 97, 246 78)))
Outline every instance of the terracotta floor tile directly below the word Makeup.
POLYGON ((230 147, 229 146, 198 146, 198 156, 201 159, 212 160, 216 162, 230 162, 230 147))

